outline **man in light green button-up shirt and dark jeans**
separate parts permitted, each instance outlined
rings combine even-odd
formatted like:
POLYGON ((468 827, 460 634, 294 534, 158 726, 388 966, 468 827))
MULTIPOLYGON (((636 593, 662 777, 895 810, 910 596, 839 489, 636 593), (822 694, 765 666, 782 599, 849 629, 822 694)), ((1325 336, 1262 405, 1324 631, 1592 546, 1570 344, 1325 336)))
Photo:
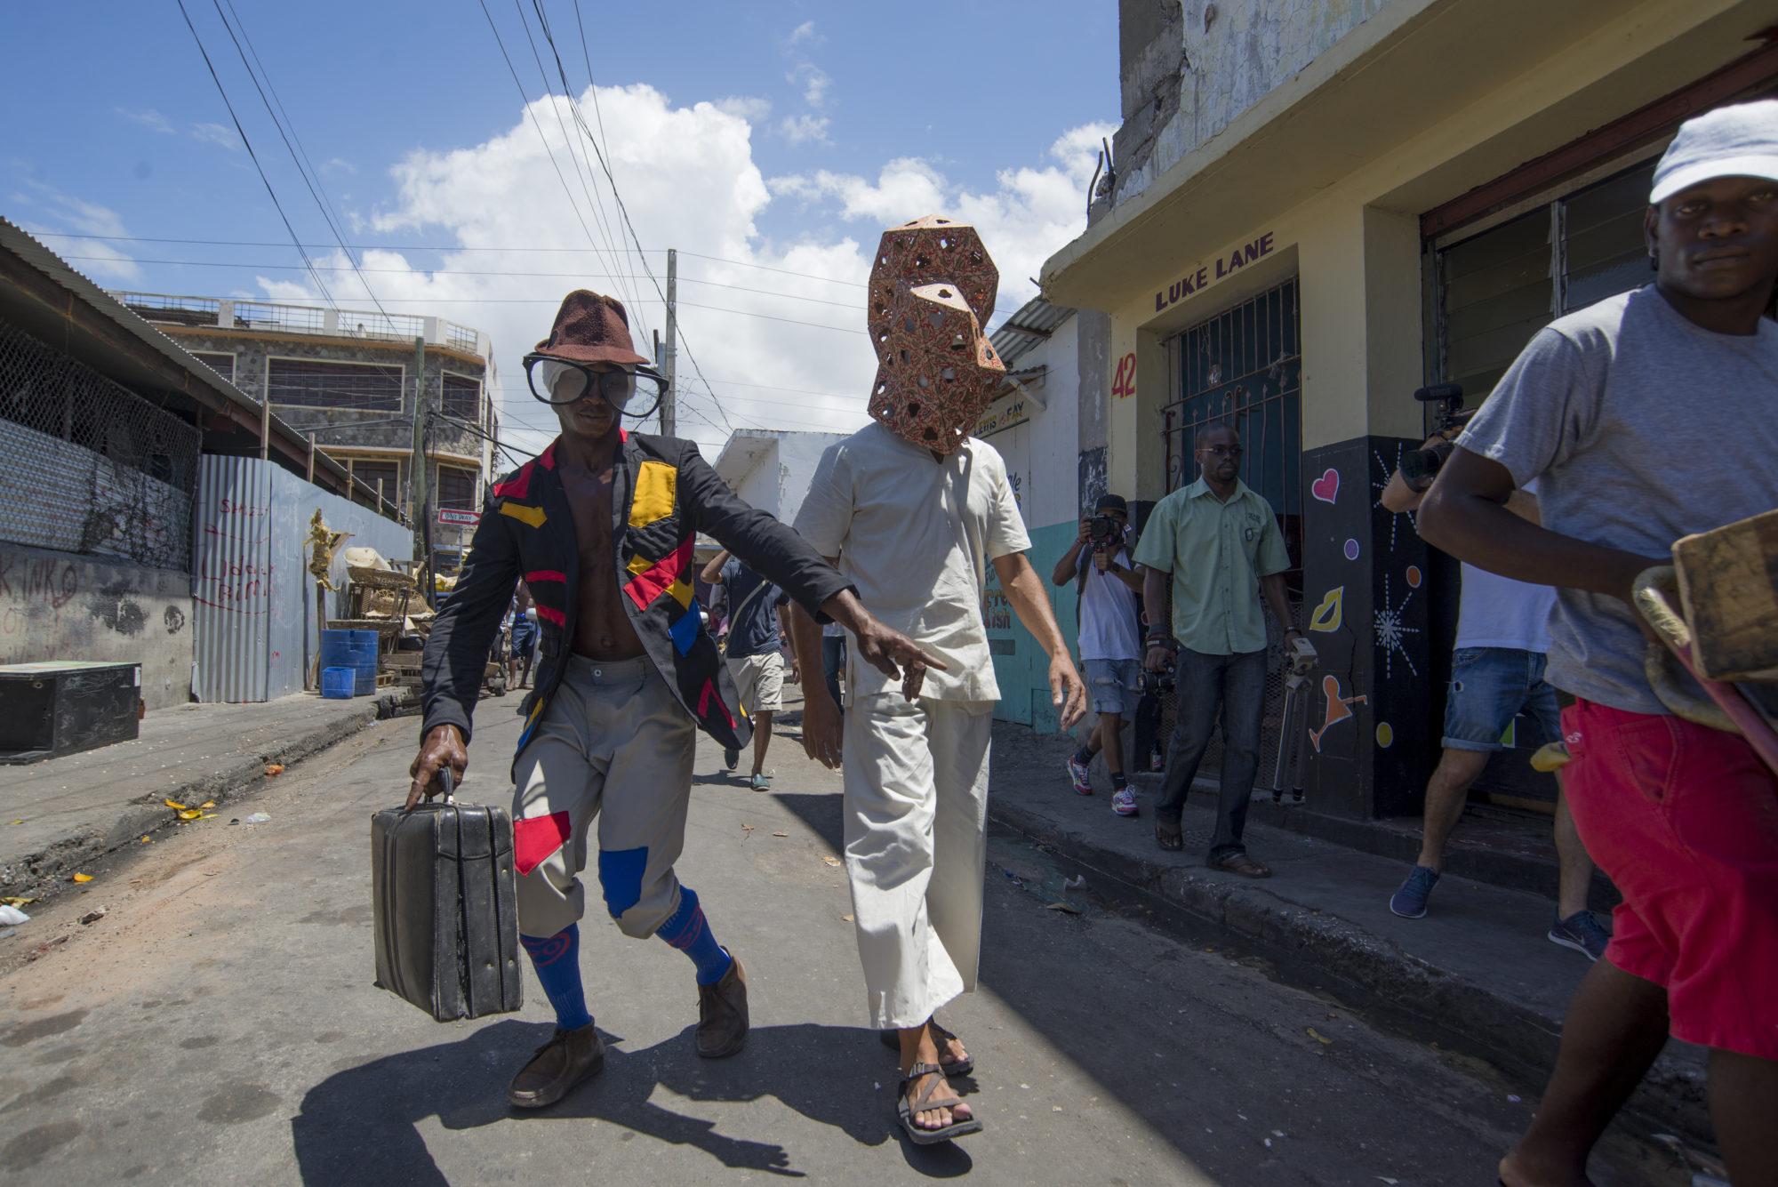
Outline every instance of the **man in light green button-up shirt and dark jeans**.
POLYGON ((1241 830, 1259 771, 1259 721, 1266 707, 1266 618, 1259 595, 1285 625, 1285 645, 1289 636, 1301 634, 1284 592, 1291 558, 1271 505, 1241 482, 1241 434, 1230 425, 1205 425, 1195 446, 1200 478, 1154 505, 1134 556, 1149 570, 1141 590, 1149 611, 1143 666, 1161 672, 1175 661, 1179 681, 1179 716, 1154 805, 1154 839, 1163 849, 1184 848, 1179 816, 1186 789, 1197 778, 1221 711, 1221 796, 1209 865, 1269 878, 1271 871, 1246 855, 1241 830), (1173 576, 1172 629, 1165 625, 1166 574, 1173 576))

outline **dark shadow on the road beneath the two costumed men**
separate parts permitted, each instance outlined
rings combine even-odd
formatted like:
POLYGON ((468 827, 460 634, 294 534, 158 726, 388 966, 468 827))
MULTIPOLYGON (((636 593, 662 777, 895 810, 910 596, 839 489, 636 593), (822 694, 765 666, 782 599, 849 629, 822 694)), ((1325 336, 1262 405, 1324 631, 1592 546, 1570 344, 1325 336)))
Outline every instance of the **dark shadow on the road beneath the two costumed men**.
MULTIPOLYGON (((836 796, 837 800, 837 796, 836 796)), ((699 1059, 690 1027, 642 1050, 624 1050, 606 1034, 605 1071, 565 1100, 525 1112, 507 1105, 507 1080, 549 1027, 498 1022, 455 1041, 388 1056, 338 1071, 302 1098, 292 1139, 304 1183, 446 1183, 427 1150, 420 1123, 437 1118, 448 1130, 500 1121, 539 1127, 553 1121, 608 1121, 676 1146, 697 1146, 724 1166, 788 1178, 805 1173, 784 1146, 718 1134, 713 1121, 683 1116, 651 1096, 665 1087, 695 1102, 749 1102, 777 1096, 813 1121, 843 1130, 861 1146, 878 1146, 894 1130, 894 1068, 877 1036, 857 1027, 814 1024, 757 1027, 747 1050, 724 1061, 699 1059), (882 1091, 864 1077, 836 1080, 834 1066, 884 1064, 882 1091)), ((962 1086, 962 1084, 960 1084, 962 1086)), ((628 1141, 624 1134, 617 1141, 628 1141)), ((971 1159, 957 1146, 903 1143, 909 1166, 933 1178, 967 1175, 971 1159)))

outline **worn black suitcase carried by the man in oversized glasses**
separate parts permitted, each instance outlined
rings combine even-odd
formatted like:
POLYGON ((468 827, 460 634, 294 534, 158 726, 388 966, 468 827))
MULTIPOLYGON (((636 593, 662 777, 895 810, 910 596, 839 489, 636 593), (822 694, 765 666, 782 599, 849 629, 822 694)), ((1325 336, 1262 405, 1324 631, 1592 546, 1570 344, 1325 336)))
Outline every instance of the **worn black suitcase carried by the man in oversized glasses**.
POLYGON ((370 817, 377 986, 439 1022, 523 1006, 512 817, 421 803, 370 817))

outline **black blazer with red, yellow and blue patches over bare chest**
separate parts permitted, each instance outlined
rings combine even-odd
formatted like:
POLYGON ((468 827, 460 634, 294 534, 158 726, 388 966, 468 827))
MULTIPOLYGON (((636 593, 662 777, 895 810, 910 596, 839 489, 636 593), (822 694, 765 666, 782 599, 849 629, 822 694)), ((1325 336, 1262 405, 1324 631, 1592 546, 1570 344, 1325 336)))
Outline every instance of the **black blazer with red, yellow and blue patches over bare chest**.
MULTIPOLYGON (((427 640, 421 737, 437 725, 455 725, 469 737, 489 649, 519 578, 537 601, 542 627, 537 682, 521 705, 519 750, 562 684, 583 574, 574 514, 557 473, 558 442, 487 490, 457 588, 427 640)), ((713 537, 818 620, 821 602, 853 586, 791 528, 738 499, 690 441, 624 432, 615 469, 610 563, 624 613, 685 711, 718 743, 740 750, 752 723, 692 592, 697 533, 713 537)))

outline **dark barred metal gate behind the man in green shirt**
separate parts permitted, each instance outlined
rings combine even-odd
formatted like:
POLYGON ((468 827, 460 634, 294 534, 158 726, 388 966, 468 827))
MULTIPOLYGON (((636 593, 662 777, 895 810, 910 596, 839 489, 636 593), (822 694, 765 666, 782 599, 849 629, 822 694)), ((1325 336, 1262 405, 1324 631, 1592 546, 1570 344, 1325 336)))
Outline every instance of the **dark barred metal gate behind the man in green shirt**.
MULTIPOLYGON (((1197 482, 1193 441, 1205 425, 1230 423, 1241 434, 1241 482, 1271 503, 1291 567, 1284 574, 1293 611, 1303 601, 1303 354, 1296 279, 1193 325, 1166 343, 1173 402, 1161 409, 1168 492, 1197 482)), ((1301 615, 1298 613, 1298 618, 1301 615)), ((1271 785, 1284 714, 1284 627, 1266 613, 1266 716, 1259 782, 1271 785)), ((1173 704, 1163 702, 1161 745, 1172 736, 1173 704)), ((1214 777, 1221 734, 1198 775, 1214 777)))

